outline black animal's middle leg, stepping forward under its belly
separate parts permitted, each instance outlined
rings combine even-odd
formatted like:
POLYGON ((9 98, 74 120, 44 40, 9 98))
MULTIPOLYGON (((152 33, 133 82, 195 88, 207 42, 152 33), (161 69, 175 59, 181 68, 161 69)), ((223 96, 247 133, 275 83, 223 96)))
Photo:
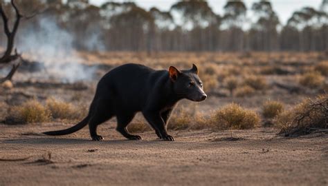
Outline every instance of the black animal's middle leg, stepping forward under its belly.
POLYGON ((118 127, 116 127, 116 130, 125 136, 125 138, 130 140, 140 140, 140 136, 129 134, 127 131, 127 125, 132 121, 134 115, 135 114, 117 114, 116 117, 118 119, 118 127))

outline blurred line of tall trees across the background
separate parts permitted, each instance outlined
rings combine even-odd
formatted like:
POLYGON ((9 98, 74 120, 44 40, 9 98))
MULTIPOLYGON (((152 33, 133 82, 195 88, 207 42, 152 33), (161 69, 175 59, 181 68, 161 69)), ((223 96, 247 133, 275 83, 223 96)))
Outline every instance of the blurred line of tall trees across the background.
MULTIPOLYGON (((293 12, 285 25, 278 19, 270 1, 257 1, 250 9, 244 1, 226 1, 222 14, 213 12, 206 1, 179 1, 168 12, 158 8, 145 10, 132 2, 107 2, 99 7, 86 0, 66 3, 17 0, 16 3, 23 12, 44 10, 39 16, 22 21, 20 33, 42 29, 40 20, 47 19, 73 36, 73 46, 77 50, 328 50, 328 0, 322 0, 318 9, 304 7, 293 12), (248 11, 254 17, 247 17, 248 11)), ((8 17, 12 16, 10 3, 2 1, 2 4, 8 17)), ((24 34, 18 34, 17 41, 22 37, 24 34)))

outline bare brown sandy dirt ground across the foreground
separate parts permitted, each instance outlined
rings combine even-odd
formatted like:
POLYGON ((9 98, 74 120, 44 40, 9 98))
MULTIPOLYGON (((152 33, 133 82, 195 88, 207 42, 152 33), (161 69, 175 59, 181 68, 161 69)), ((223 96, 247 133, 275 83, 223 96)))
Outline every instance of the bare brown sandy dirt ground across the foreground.
POLYGON ((106 123, 100 142, 90 140, 87 128, 37 135, 64 127, 69 124, 0 125, 0 185, 328 184, 327 134, 286 138, 257 128, 235 130, 239 139, 231 141, 229 131, 186 130, 171 131, 174 142, 154 132, 127 141, 106 123))

